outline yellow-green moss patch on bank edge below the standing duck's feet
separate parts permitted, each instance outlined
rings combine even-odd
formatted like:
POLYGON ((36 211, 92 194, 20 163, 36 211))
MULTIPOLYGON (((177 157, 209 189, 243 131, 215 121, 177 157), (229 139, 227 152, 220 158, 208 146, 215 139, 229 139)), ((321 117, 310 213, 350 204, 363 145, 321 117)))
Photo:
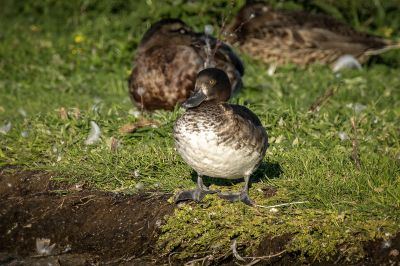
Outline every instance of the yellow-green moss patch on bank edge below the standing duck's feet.
MULTIPOLYGON (((257 201, 264 201, 258 195, 257 201)), ((287 200, 280 191, 268 202, 287 200)), ((363 243, 385 238, 399 230, 394 221, 366 213, 323 210, 294 205, 271 212, 249 208, 241 203, 229 204, 217 197, 208 197, 199 205, 184 205, 175 210, 162 227, 158 247, 165 254, 186 260, 194 254, 213 254, 221 259, 231 254, 234 239, 243 247, 242 255, 254 255, 260 242, 268 236, 291 235, 286 250, 312 260, 330 260, 340 253, 349 261, 364 256, 363 243)))

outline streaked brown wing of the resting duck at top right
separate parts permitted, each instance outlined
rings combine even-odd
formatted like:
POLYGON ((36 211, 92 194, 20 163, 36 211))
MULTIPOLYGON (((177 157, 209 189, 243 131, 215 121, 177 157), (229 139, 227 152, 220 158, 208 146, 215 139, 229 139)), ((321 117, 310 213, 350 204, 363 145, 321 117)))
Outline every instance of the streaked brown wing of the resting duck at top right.
POLYGON ((334 18, 305 12, 269 11, 244 26, 243 38, 282 39, 294 48, 333 49, 355 56, 367 50, 382 49, 390 42, 358 32, 334 18))

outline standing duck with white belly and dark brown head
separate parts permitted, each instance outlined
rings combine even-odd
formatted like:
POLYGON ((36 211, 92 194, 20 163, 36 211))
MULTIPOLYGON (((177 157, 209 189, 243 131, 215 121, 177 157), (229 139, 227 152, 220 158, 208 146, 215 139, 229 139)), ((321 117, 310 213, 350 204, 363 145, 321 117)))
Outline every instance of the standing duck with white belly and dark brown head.
POLYGON ((175 146, 183 160, 198 174, 195 190, 182 191, 176 202, 196 202, 217 193, 231 202, 253 205, 248 195, 251 174, 268 147, 267 133, 258 117, 244 106, 228 104, 231 83, 224 71, 206 68, 196 78, 194 94, 183 103, 186 112, 174 125, 175 146), (243 178, 239 193, 210 190, 202 176, 243 178))

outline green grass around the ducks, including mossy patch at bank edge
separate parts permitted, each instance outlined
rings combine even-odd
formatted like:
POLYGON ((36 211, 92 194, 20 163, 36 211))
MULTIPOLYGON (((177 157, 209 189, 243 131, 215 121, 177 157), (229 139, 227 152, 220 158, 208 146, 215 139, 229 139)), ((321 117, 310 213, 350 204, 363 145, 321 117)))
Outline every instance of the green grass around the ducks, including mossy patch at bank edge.
MULTIPOLYGON (((227 13, 220 1, 177 8, 181 2, 6 1, 0 16, 0 126, 11 122, 12 128, 0 133, 0 166, 42 169, 56 180, 127 193, 193 187, 191 169, 173 148, 172 126, 181 110, 146 114, 160 123, 157 128, 119 133, 138 119, 131 114, 126 79, 150 23, 181 17, 201 30, 206 23, 217 26, 227 13), (87 146, 90 121, 102 135, 87 146), (113 139, 120 143, 116 151, 113 139)), ((276 5, 326 12, 358 29, 399 37, 395 1, 312 3, 276 5)), ((232 102, 258 114, 271 142, 251 195, 262 205, 307 203, 270 212, 209 196, 203 204, 176 209, 163 227, 160 251, 181 250, 176 258, 183 260, 201 252, 223 258, 236 239, 240 252, 250 255, 267 236, 291 235, 287 250, 304 257, 324 260, 339 252, 357 260, 364 255, 362 241, 399 232, 400 53, 340 77, 324 66, 290 65, 268 76, 268 66, 241 56, 245 88, 232 102), (328 88, 336 88, 335 94, 310 113, 328 88), (359 168, 352 158, 354 139, 359 168), (269 187, 277 194, 265 198, 262 189, 269 187)))

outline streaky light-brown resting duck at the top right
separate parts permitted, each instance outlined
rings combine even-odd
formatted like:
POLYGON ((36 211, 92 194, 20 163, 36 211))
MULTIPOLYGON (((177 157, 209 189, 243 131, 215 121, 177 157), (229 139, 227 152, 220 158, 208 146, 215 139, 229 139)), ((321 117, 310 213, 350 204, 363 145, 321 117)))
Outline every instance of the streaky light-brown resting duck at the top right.
POLYGON ((343 55, 352 55, 363 63, 370 55, 400 47, 328 16, 273 10, 261 2, 247 3, 228 32, 229 42, 242 52, 278 65, 332 64, 343 55))

